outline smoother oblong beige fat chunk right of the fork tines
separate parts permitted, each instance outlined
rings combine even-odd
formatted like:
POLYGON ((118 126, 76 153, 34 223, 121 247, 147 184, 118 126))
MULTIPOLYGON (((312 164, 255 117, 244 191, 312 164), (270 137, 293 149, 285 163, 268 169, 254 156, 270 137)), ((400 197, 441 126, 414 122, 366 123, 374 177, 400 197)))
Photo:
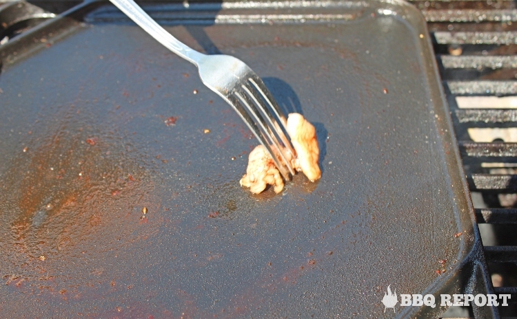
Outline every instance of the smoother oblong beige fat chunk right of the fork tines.
POLYGON ((316 140, 316 129, 298 113, 290 113, 287 118, 287 133, 296 151, 296 159, 292 161, 294 168, 302 171, 311 181, 321 177, 318 159, 320 149, 316 140))

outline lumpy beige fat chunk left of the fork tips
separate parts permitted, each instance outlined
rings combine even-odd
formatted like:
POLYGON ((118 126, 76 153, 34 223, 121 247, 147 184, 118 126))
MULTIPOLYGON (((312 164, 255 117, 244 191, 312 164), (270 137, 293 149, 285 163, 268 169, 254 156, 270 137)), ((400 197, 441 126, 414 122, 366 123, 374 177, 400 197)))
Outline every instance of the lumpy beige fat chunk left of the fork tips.
POLYGON ((240 181, 241 186, 249 187, 254 194, 265 190, 267 185, 272 185, 274 192, 281 192, 284 185, 282 176, 266 148, 262 145, 256 146, 249 159, 246 174, 240 181))

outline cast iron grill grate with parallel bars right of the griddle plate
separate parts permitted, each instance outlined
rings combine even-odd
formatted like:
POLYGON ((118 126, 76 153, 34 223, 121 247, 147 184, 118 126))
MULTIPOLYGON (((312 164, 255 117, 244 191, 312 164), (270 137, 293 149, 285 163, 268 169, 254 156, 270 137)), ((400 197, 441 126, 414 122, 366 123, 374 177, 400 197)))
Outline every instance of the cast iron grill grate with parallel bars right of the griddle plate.
POLYGON ((517 5, 413 1, 422 10, 452 115, 500 316, 517 314, 517 5))

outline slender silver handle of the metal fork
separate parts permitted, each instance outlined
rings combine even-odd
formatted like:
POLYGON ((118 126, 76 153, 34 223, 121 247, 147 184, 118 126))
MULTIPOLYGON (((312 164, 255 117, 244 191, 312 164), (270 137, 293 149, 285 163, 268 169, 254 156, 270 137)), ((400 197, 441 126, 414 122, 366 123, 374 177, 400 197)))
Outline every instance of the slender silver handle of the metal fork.
POLYGON ((133 0, 110 0, 117 8, 125 13, 134 23, 148 32, 156 41, 163 44, 169 50, 178 54, 185 60, 194 65, 198 65, 200 59, 205 57, 205 54, 192 50, 187 45, 181 43, 174 38, 169 32, 165 31, 156 21, 154 21, 142 8, 139 7, 133 0))

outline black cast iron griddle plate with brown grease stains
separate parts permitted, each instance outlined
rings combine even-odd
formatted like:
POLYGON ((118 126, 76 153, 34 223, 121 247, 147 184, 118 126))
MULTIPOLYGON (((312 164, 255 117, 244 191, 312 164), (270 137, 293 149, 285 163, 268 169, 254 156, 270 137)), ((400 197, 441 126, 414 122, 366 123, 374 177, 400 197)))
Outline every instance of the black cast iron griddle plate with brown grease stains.
POLYGON ((144 8, 194 49, 241 58, 287 111, 314 123, 321 180, 298 174, 279 195, 250 194, 239 179, 257 141, 194 66, 110 5, 68 36, 48 23, 43 40, 30 39, 41 50, 14 43, 2 53, 2 316, 443 311, 384 313, 381 303, 388 285, 456 292, 472 248, 418 11, 220 6, 144 8), (175 15, 191 20, 174 25, 175 15))

